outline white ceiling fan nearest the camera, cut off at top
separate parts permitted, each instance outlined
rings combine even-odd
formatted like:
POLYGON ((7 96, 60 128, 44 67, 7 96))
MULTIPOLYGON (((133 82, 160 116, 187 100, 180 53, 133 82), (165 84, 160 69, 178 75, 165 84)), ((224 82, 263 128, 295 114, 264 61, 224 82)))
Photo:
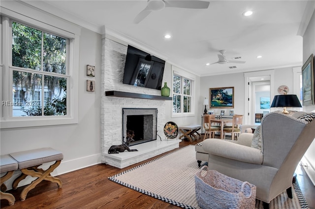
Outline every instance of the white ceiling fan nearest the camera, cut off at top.
POLYGON ((203 0, 148 0, 147 7, 144 8, 133 20, 138 24, 146 18, 152 11, 162 10, 165 7, 178 7, 188 9, 207 9, 209 1, 203 0))

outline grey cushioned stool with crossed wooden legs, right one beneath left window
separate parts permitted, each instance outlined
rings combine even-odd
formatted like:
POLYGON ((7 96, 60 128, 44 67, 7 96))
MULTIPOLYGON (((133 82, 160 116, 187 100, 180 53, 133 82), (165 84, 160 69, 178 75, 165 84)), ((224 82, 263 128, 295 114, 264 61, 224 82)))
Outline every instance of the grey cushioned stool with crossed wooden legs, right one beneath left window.
POLYGON ((22 174, 15 179, 12 188, 16 189, 21 180, 27 176, 32 176, 37 179, 33 180, 31 184, 26 186, 20 195, 21 201, 24 201, 28 192, 33 189, 42 180, 49 180, 58 184, 58 188, 62 187, 62 181, 58 178, 52 177, 51 172, 57 168, 63 159, 63 153, 52 148, 32 149, 28 151, 20 151, 10 154, 19 165, 22 174), (43 163, 56 161, 46 171, 38 168, 43 163))

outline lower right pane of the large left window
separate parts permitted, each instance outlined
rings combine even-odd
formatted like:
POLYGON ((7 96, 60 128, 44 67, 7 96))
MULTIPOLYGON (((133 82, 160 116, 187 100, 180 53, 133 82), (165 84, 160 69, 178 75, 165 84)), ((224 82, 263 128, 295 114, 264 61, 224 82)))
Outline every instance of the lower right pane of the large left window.
POLYGON ((44 116, 66 115, 67 79, 44 76, 44 116))

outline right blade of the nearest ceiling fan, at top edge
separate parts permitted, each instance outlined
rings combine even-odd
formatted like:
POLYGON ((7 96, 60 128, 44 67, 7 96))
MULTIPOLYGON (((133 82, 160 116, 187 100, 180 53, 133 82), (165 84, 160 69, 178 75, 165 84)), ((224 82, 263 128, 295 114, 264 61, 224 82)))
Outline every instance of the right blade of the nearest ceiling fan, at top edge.
POLYGON ((165 7, 178 7, 188 9, 207 9, 209 1, 203 0, 164 0, 165 7))

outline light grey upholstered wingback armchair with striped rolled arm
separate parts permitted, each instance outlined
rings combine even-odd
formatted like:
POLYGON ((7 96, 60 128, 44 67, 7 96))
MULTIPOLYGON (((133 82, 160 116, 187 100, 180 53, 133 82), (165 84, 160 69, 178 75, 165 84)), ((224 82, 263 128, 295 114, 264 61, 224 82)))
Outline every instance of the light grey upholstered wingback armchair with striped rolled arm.
MULTIPOLYGON (((254 184, 256 198, 264 202, 264 209, 284 190, 292 198, 294 171, 315 138, 314 117, 314 113, 269 113, 252 134, 252 143, 244 145, 206 139, 202 149, 209 154, 208 167, 254 184)), ((242 133, 240 138, 243 134, 249 135, 242 133)))

